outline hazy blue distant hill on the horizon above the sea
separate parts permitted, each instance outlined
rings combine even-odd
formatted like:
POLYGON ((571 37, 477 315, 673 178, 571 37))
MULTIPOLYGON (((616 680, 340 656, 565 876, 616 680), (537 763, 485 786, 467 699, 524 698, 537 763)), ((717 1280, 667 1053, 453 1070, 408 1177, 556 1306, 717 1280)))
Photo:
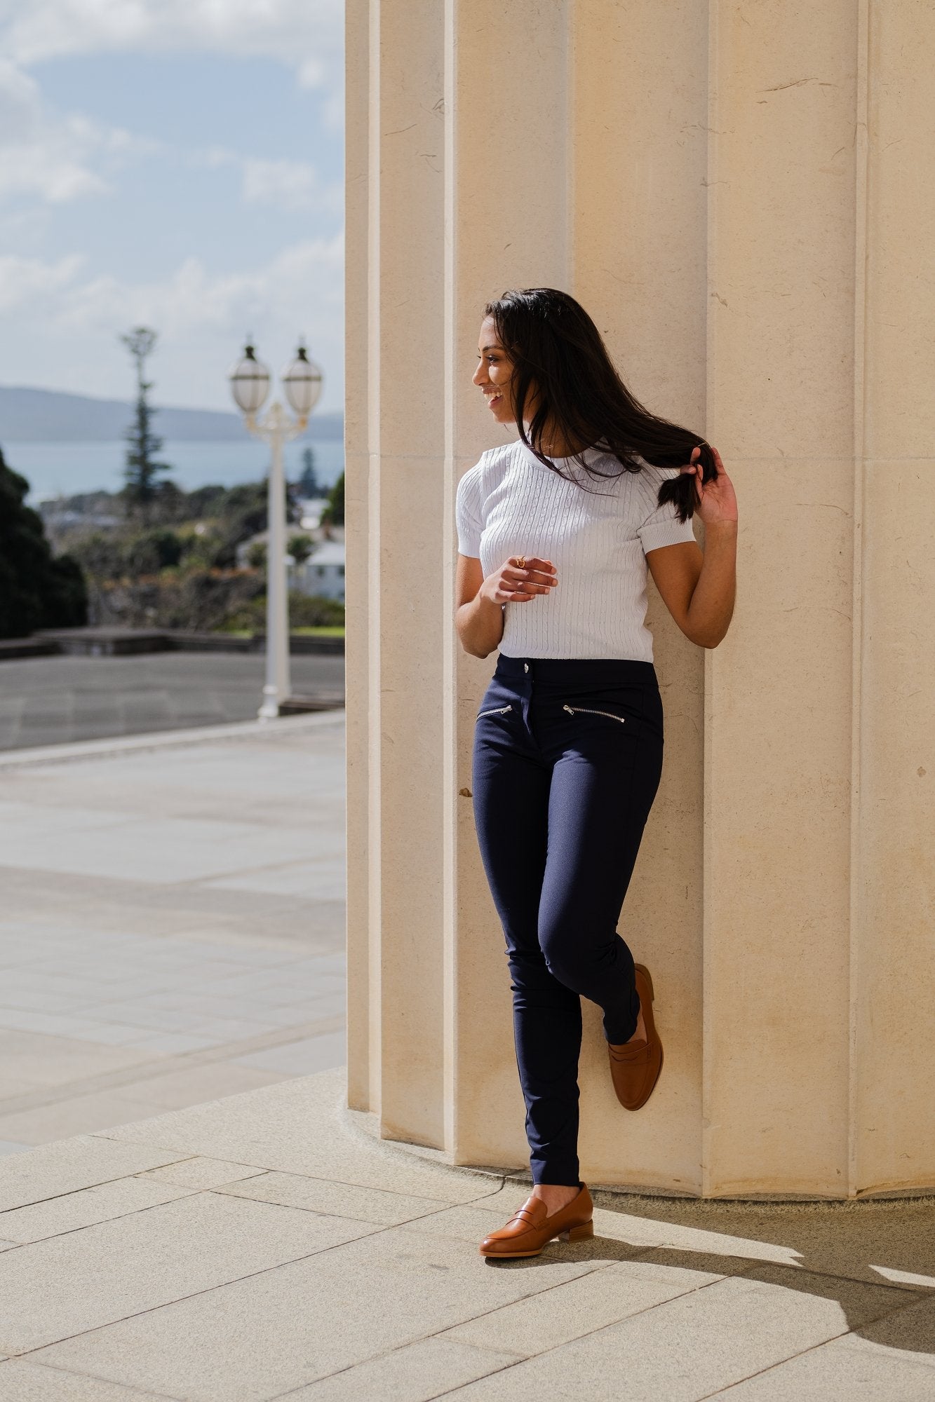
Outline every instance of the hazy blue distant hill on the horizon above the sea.
MULTIPOLYGON (((239 414, 218 409, 157 409, 153 428, 170 442, 243 442, 247 430, 239 414)), ((129 428, 132 405, 122 400, 93 400, 58 390, 0 386, 0 443, 112 443, 129 428)), ((344 415, 313 414, 307 437, 344 436, 344 415)))

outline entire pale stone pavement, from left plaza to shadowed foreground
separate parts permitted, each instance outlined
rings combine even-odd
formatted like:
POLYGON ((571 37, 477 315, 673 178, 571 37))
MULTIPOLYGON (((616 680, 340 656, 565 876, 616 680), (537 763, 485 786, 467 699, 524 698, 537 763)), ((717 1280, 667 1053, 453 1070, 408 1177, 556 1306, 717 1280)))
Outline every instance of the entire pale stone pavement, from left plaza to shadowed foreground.
POLYGON ((935 1202, 484 1262, 522 1175, 345 1109, 343 721, 0 757, 0 1402, 932 1402, 935 1202))

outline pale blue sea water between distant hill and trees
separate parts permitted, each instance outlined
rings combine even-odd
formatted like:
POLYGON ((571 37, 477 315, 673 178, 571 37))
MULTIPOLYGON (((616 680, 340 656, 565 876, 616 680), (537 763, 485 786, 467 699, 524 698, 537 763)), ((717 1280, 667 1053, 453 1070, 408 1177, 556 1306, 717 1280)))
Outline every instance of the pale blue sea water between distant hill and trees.
MULTIPOLYGON (((323 486, 331 486, 344 471, 344 444, 337 440, 286 443, 285 474, 289 481, 302 475, 302 454, 310 447, 314 472, 323 486)), ((125 443, 4 443, 7 465, 29 484, 31 506, 55 496, 77 492, 117 492, 124 485, 125 443)), ((168 463, 163 472, 183 491, 195 486, 236 486, 257 482, 270 470, 270 447, 260 439, 243 443, 167 442, 157 454, 168 463)))

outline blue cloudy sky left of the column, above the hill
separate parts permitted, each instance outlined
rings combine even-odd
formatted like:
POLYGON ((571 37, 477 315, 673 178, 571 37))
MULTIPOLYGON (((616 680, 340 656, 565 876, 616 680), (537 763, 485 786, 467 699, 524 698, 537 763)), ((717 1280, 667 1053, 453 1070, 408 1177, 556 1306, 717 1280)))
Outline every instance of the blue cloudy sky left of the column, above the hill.
POLYGON ((341 0, 0 0, 0 384, 230 408, 247 334, 343 400, 341 0))

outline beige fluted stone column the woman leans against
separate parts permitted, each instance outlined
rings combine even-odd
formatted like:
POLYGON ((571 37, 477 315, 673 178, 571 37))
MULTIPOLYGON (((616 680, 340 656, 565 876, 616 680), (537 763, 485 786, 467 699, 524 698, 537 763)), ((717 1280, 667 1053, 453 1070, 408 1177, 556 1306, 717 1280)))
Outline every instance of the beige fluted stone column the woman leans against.
POLYGON ((665 765, 619 928, 665 1068, 622 1112, 585 1004, 583 1173, 935 1186, 935 11, 418 13, 348 0, 351 1103, 526 1164, 469 796, 494 658, 453 637, 453 491, 501 433, 470 384, 483 303, 552 283, 719 446, 741 516, 717 649, 650 599, 665 765))

